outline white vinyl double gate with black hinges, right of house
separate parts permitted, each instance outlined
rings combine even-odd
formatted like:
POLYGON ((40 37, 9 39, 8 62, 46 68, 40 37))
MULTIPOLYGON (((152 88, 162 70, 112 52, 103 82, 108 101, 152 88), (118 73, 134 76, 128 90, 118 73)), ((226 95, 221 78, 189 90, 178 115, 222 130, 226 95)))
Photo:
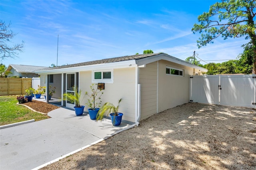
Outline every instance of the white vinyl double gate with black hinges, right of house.
POLYGON ((190 75, 190 102, 256 107, 256 75, 190 75))

